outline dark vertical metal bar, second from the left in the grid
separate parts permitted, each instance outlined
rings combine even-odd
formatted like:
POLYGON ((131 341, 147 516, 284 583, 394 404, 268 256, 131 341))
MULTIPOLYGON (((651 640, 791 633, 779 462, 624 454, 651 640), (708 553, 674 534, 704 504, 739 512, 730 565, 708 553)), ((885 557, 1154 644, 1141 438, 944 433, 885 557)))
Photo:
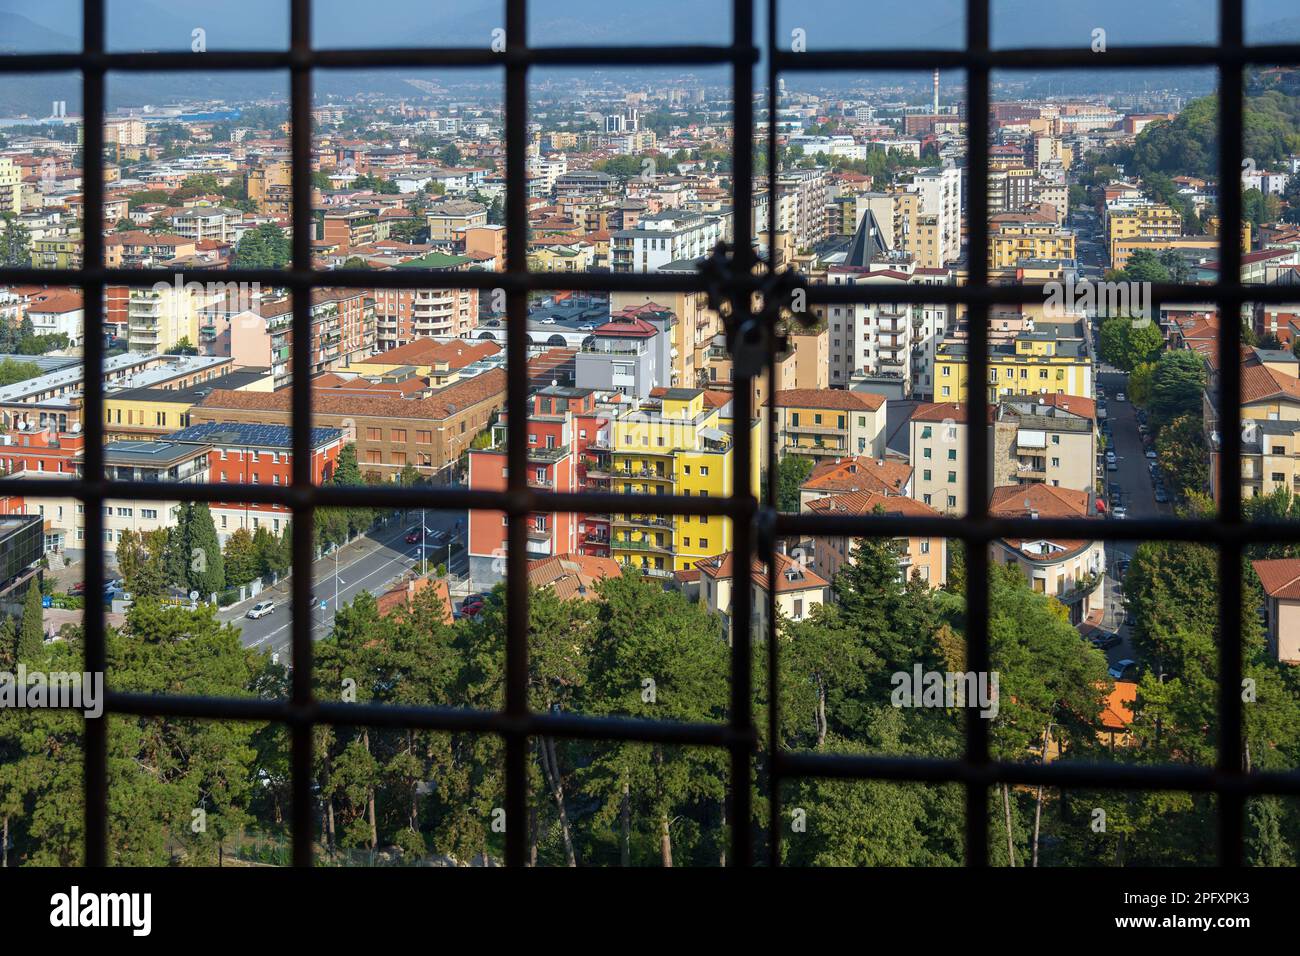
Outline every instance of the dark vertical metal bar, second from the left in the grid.
MULTIPOLYGON (((311 74, 311 0, 292 0, 290 9, 290 43, 292 70, 290 74, 290 143, 292 150, 292 248, 294 269, 312 268, 312 74, 311 74)), ((292 346, 292 486, 303 492, 294 506, 294 574, 291 579, 292 609, 290 633, 292 635, 292 685, 290 689, 295 713, 300 717, 312 706, 312 559, 313 511, 312 490, 312 289, 294 289, 292 346)), ((292 761, 292 845, 294 865, 312 865, 312 735, 309 719, 295 721, 291 727, 292 761)))

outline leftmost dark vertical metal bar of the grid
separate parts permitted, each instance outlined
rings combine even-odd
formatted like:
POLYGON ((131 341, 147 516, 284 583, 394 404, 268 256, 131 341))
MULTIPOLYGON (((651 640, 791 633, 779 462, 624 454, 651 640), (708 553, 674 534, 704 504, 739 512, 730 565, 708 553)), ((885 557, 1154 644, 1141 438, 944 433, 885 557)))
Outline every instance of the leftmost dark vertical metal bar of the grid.
MULTIPOLYGON (((87 57, 104 52, 104 3, 82 5, 82 49, 87 57)), ((82 268, 104 265, 104 69, 92 60, 82 65, 82 268)), ((86 429, 83 475, 90 485, 86 510, 86 671, 104 674, 108 649, 104 611, 92 614, 90 597, 104 593, 104 282, 82 284, 82 428, 86 429)), ((86 726, 86 865, 108 864, 108 721, 105 711, 86 726)))

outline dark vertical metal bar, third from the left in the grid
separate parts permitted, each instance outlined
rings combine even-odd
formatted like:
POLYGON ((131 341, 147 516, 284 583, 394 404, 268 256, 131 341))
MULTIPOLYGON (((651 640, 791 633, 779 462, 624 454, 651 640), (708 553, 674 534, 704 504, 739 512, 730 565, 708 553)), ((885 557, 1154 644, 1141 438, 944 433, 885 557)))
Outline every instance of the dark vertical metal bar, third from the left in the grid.
MULTIPOLYGON (((528 48, 526 0, 506 3, 506 44, 528 48)), ((528 273, 528 65, 506 66, 506 271, 528 273)), ((506 713, 528 717, 528 293, 506 297, 506 463, 511 493, 506 554, 506 713)), ((506 865, 528 849, 528 736, 506 735, 506 865)))

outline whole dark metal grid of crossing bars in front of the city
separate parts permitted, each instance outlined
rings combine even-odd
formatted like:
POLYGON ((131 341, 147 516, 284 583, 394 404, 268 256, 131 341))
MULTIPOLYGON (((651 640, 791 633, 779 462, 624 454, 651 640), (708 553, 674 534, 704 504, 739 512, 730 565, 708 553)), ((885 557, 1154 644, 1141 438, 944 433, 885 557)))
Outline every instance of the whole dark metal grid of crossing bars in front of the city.
MULTIPOLYGON (((528 675, 528 588, 526 588, 526 518, 532 511, 610 511, 618 510, 618 494, 566 494, 530 489, 526 484, 526 295, 530 290, 628 290, 628 291, 707 291, 703 276, 611 274, 611 273, 546 273, 526 271, 526 195, 525 195, 525 117, 528 101, 528 70, 530 66, 577 65, 707 65, 722 64, 732 68, 734 91, 733 135, 734 143, 753 142, 754 73, 758 49, 754 46, 754 5, 757 0, 733 0, 732 40, 728 46, 686 47, 546 47, 530 48, 526 43, 526 0, 506 0, 507 49, 503 53, 464 48, 416 49, 333 49, 315 51, 311 47, 311 0, 289 0, 290 48, 282 52, 208 52, 198 64, 190 53, 109 53, 104 48, 107 0, 83 0, 82 51, 79 53, 18 55, 0 57, 0 74, 52 73, 75 70, 83 79, 83 114, 104 116, 105 77, 109 72, 188 72, 188 70, 289 70, 291 77, 292 120, 292 268, 287 271, 240 271, 233 273, 240 280, 286 287, 294 294, 292 333, 298 342, 309 341, 309 291, 317 285, 344 287, 403 287, 403 289, 504 289, 507 293, 507 421, 510 468, 504 492, 473 492, 468 489, 411 489, 384 488, 318 488, 311 483, 311 380, 309 352, 298 349, 292 354, 292 450, 294 475, 289 486, 248 485, 240 494, 254 503, 280 503, 292 510, 292 557, 295 567, 308 567, 312 559, 312 515, 320 507, 373 506, 373 507, 430 507, 430 509, 490 509, 508 515, 507 555, 507 658, 506 702, 497 713, 445 708, 411 708, 365 704, 338 704, 313 698, 311 688, 312 640, 309 615, 292 619, 292 688, 286 701, 225 700, 205 697, 159 697, 113 692, 107 695, 105 713, 134 715, 172 715, 205 719, 276 721, 292 731, 292 847, 294 862, 309 866, 312 862, 312 727, 317 723, 376 727, 420 727, 441 731, 472 731, 498 734, 506 741, 506 861, 523 865, 526 856, 526 745, 534 735, 581 737, 592 740, 638 740, 677 745, 727 748, 731 753, 731 786, 728 819, 733 821, 729 860, 733 865, 754 862, 751 829, 736 825, 750 819, 749 778, 757 752, 758 732, 750 710, 750 653, 751 633, 748 626, 751 613, 749 587, 733 589, 732 640, 732 692, 731 721, 725 724, 681 724, 642 719, 597 718, 567 714, 534 714, 526 705, 528 675), (339 68, 394 68, 394 66, 497 66, 506 74, 507 117, 507 271, 504 273, 419 273, 419 272, 313 272, 308 226, 311 224, 311 79, 315 69, 339 68)), ((1041 300, 1044 291, 1037 286, 996 289, 988 285, 985 241, 988 235, 987 193, 983 183, 988 173, 988 108, 989 74, 993 69, 1015 68, 1216 68, 1219 78, 1219 177, 1227 189, 1219 189, 1219 215, 1225 224, 1239 222, 1242 196, 1235 172, 1242 164, 1242 107, 1243 74, 1247 64, 1300 65, 1300 46, 1254 46, 1243 43, 1244 0, 1219 0, 1219 43, 1217 46, 1156 46, 1113 48, 1098 57, 1091 51, 1078 49, 998 49, 989 48, 991 0, 967 0, 966 44, 963 49, 901 49, 901 51, 824 51, 792 53, 777 49, 777 0, 767 0, 767 48, 772 51, 767 62, 766 101, 775 103, 776 81, 783 72, 798 70, 930 70, 935 66, 962 69, 967 75, 967 242, 970 282, 966 286, 812 286, 807 300, 812 303, 875 303, 909 302, 965 306, 970 316, 970 369, 971 384, 967 397, 970 420, 987 419, 988 397, 982 385, 988 371, 988 308, 994 303, 1041 300)), ((104 150, 103 124, 84 124, 84 208, 103 207, 104 176, 101 156, 104 150)), ((775 124, 768 125, 768 195, 776 195, 776 143, 775 124)), ((734 170, 734 235, 751 234, 754 193, 753 153, 737 148, 734 170)), ((91 213, 94 215, 94 213, 91 213)), ((775 251, 775 235, 771 237, 775 251)), ((1238 229, 1221 230, 1219 259, 1222 263, 1239 261, 1242 255, 1238 229)), ((724 274, 723 293, 729 300, 733 316, 749 323, 754 330, 762 316, 751 315, 751 293, 759 291, 762 280, 754 274, 754 251, 746 242, 736 243, 731 251, 729 269, 724 274)), ((94 329, 103 319, 103 290, 105 285, 148 285, 170 282, 170 269, 108 269, 104 268, 104 237, 100 229, 87 229, 84 259, 81 269, 0 269, 0 284, 42 284, 79 286, 84 294, 86 328, 94 329)), ((716 285, 714 286, 716 291, 716 285)), ((1156 286, 1153 300, 1205 302, 1212 299, 1221 315, 1235 315, 1245 302, 1283 302, 1287 290, 1270 286, 1244 286, 1239 277, 1222 281, 1213 289, 1206 286, 1156 286)), ((1294 298, 1294 293, 1290 294, 1294 298)), ((1219 354, 1236 355, 1240 347, 1238 323, 1223 321, 1219 328, 1219 354)), ((767 337, 767 375, 775 339, 767 337)), ((134 497, 139 499, 183 499, 214 502, 229 497, 229 488, 221 485, 148 485, 110 481, 104 477, 103 459, 103 382, 98 371, 103 367, 104 345, 98 336, 86 336, 84 346, 84 411, 86 468, 84 476, 74 483, 31 480, 25 484, 29 496, 72 494, 86 503, 86 541, 103 541, 103 510, 105 501, 134 497)), ((1238 363, 1222 363, 1221 394, 1234 397, 1240 389, 1238 363)), ((749 372, 736 376, 734 418, 748 421, 753 418, 751 382, 749 372)), ((771 385, 771 381, 768 382, 771 385)), ((1223 460, 1235 462, 1240 453, 1240 408, 1228 401, 1221 411, 1223 460)), ((771 428, 771 425, 770 425, 771 428)), ((764 502, 758 502, 751 486, 750 471, 740 467, 734 473, 736 494, 723 498, 664 497, 655 509, 663 514, 718 515, 729 518, 734 525, 734 550, 738 555, 758 553, 771 555, 776 538, 786 535, 840 535, 840 536, 898 536, 931 535, 961 538, 966 544, 968 581, 985 581, 988 572, 987 545, 998 537, 1034 533, 1037 536, 1078 537, 1096 536, 1096 524, 1083 519, 994 519, 988 514, 988 446, 983 433, 967 429, 970 471, 966 475, 970 512, 963 518, 897 519, 887 516, 793 515, 776 511, 776 488, 770 483, 764 502)), ((771 437, 771 432, 768 433, 771 437)), ((736 455, 733 462, 748 463, 753 453, 750 429, 736 429, 736 455)), ((775 466, 775 442, 768 441, 768 466, 775 466)), ((1230 466, 1231 467, 1231 466, 1230 466)), ((1240 615, 1242 581, 1240 562, 1243 549, 1256 541, 1294 541, 1300 535, 1291 525, 1251 524, 1242 520, 1240 488, 1235 481, 1225 481, 1219 512, 1213 519, 1128 520, 1108 524, 1106 537, 1113 540, 1176 540, 1209 542, 1219 550, 1219 588, 1222 606, 1228 610, 1222 620, 1219 640, 1219 740, 1218 762, 1214 767, 1187 766, 1119 766, 1119 765, 1056 765, 994 762, 989 758, 988 728, 985 722, 967 721, 967 748, 961 760, 930 760, 916 757, 827 756, 788 753, 780 749, 768 753, 768 795, 771 817, 768 823, 768 862, 780 858, 780 787, 784 780, 800 777, 875 778, 900 782, 961 783, 966 788, 966 862, 984 866, 988 862, 988 788, 996 783, 1046 784, 1052 787, 1089 788, 1145 788, 1186 790, 1212 792, 1218 796, 1218 858, 1223 865, 1242 862, 1242 810, 1247 797, 1264 793, 1300 795, 1300 771, 1252 773, 1242 769, 1242 701, 1238 693, 1242 676, 1240 615)), ((779 715, 777 645, 775 637, 775 575, 768 561, 768 633, 764 635, 768 653, 770 724, 768 735, 775 747, 779 715)), ((748 574, 744 557, 734 562, 737 583, 748 574)), ((96 593, 104 578, 103 550, 86 549, 87 593, 96 593)), ((292 576, 292 600, 298 607, 309 605, 311 576, 292 576)), ((105 670, 105 635, 103 615, 86 615, 84 667, 88 671, 105 670)), ((988 670, 988 589, 970 587, 967 594, 967 657, 971 670, 988 670)), ((108 675, 110 679, 112 675, 108 675)), ((86 864, 107 864, 107 723, 86 722, 86 864)))

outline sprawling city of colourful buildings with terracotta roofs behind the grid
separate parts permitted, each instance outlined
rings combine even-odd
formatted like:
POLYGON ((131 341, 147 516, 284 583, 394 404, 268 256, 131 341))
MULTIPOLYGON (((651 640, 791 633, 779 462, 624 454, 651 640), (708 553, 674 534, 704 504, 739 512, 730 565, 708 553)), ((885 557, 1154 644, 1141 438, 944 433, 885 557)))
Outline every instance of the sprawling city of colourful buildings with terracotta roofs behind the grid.
MULTIPOLYGON (((259 609, 286 606, 290 568, 274 553, 287 546, 291 511, 247 503, 240 492, 291 484, 292 389, 312 393, 316 483, 421 486, 430 502, 451 486, 503 490, 506 338, 512 321, 525 321, 528 485, 627 501, 611 511, 529 515, 533 588, 601 604, 608 581, 632 579, 705 615, 724 645, 738 580, 734 528, 720 516, 659 514, 656 498, 725 498, 749 470, 753 488, 776 485, 785 511, 961 516, 971 509, 970 450, 987 442, 989 514, 1096 527, 1091 537, 1002 538, 988 549, 989 564, 1050 606, 1079 649, 1095 652, 1098 676, 1084 683, 1101 702, 1075 714, 1087 731, 1048 723, 1028 749, 1043 760, 1093 745, 1138 749, 1144 680, 1158 684, 1173 666, 1152 658, 1162 611, 1140 606, 1148 585, 1128 574, 1135 562, 1147 574, 1153 559, 1136 544, 1106 541, 1109 523, 1209 514, 1223 483, 1238 480, 1257 509, 1251 516, 1300 512, 1300 287, 1294 306, 1247 306, 1227 317, 1243 325, 1240 355, 1219 354, 1225 317, 1214 306, 1152 307, 1141 298, 1152 282, 1216 282, 1225 228, 1242 230, 1243 282, 1300 286, 1297 77, 1279 69, 1252 81, 1252 96, 1290 98, 1291 125, 1274 155, 1242 176, 1248 219, 1239 226, 1218 217, 1213 170, 1191 159, 1179 165, 1193 151, 1174 139, 1195 142, 1190 117, 1205 100, 1176 83, 1145 96, 994 96, 987 183, 970 181, 965 90, 941 86, 937 70, 931 90, 881 82, 820 94, 783 83, 770 111, 759 104, 755 155, 771 124, 780 165, 775 194, 767 170, 755 170, 751 215, 741 220, 753 224, 749 235, 736 234, 729 155, 750 144, 734 142, 728 91, 630 81, 547 91, 511 133, 526 137, 528 268, 556 273, 559 286, 568 273, 689 274, 720 243, 750 243, 760 268, 797 271, 811 285, 957 287, 972 258, 984 256, 993 285, 1070 293, 989 310, 987 381, 972 378, 962 308, 783 312, 771 380, 749 385, 749 420, 737 419, 725 321, 703 291, 556 290, 530 295, 526 315, 510 316, 504 293, 477 276, 476 287, 455 287, 456 273, 507 265, 507 117, 497 96, 439 86, 316 104, 311 168, 296 170, 311 177, 309 242, 326 273, 311 297, 308 341, 296 341, 286 290, 237 274, 291 259, 295 170, 283 103, 120 108, 107 117, 103 157, 84 156, 78 117, 57 104, 51 121, 6 121, 0 264, 81 268, 87 232, 100 230, 105 265, 182 278, 109 286, 101 328, 86 328, 75 289, 0 289, 0 549, 13 538, 26 562, 5 564, 0 604, 21 613, 32 587, 84 600, 77 575, 87 549, 100 549, 113 578, 104 601, 118 624, 144 596, 208 604, 244 648, 287 662, 286 622, 259 609), (98 221, 83 203, 84 164, 96 161, 105 174, 98 221), (984 248, 970 239, 976 190, 987 194, 984 248), (389 277, 373 289, 334 286, 333 269, 437 272, 450 287, 391 287, 389 277), (104 343, 100 372, 82 360, 91 336, 104 343), (292 378, 295 349, 311 354, 306 382, 292 378), (1240 367, 1239 463, 1219 457, 1222 403, 1238 401, 1221 393, 1225 363, 1240 367), (29 494, 27 479, 86 477, 87 373, 103 381, 108 477, 221 484, 229 501, 199 518, 179 497, 114 501, 104 507, 103 540, 91 541, 74 494, 29 494), (978 388, 989 414, 976 423, 967 402, 978 388), (742 429, 757 449, 749 462, 738 458, 742 429), (200 540, 208 532, 194 528, 209 519, 212 536, 200 540), (255 561, 244 559, 251 540, 255 561), (211 551, 202 574, 169 563, 177 541, 211 551), (165 575, 142 592, 142 568, 155 558, 165 575)), ((1196 146, 1197 156, 1213 153, 1196 146)), ((313 605, 291 609, 318 618, 317 639, 337 622, 355 624, 350 607, 372 597, 376 620, 408 620, 432 601, 439 627, 486 627, 510 548, 502 512, 430 506, 341 520, 318 528, 313 605)), ((918 606, 931 602, 941 633, 939 619, 949 627, 944 614, 956 614, 945 602, 966 585, 959 542, 918 532, 885 546, 889 587, 918 606)), ((840 633, 826 622, 844 622, 855 606, 854 588, 879 570, 868 558, 879 555, 844 536, 780 538, 771 580, 780 627, 789 628, 783 640, 798 644, 811 633, 801 628, 840 633)), ((767 632, 768 570, 754 561, 755 635, 767 632)), ((1288 672, 1300 665, 1300 549, 1252 555, 1249 572, 1262 659, 1288 672)), ((1201 587, 1213 604, 1212 585, 1201 587)), ((61 614, 53 602, 46 609, 52 643, 70 626, 61 614)), ((823 680, 818 670, 809 691, 819 695, 810 705, 818 745, 832 732, 823 680)), ((554 754, 545 760, 547 786, 563 790, 554 754)), ((368 822, 358 813, 373 848, 374 809, 368 822)), ((1036 830, 1034 839, 1036 856, 1036 830)))

